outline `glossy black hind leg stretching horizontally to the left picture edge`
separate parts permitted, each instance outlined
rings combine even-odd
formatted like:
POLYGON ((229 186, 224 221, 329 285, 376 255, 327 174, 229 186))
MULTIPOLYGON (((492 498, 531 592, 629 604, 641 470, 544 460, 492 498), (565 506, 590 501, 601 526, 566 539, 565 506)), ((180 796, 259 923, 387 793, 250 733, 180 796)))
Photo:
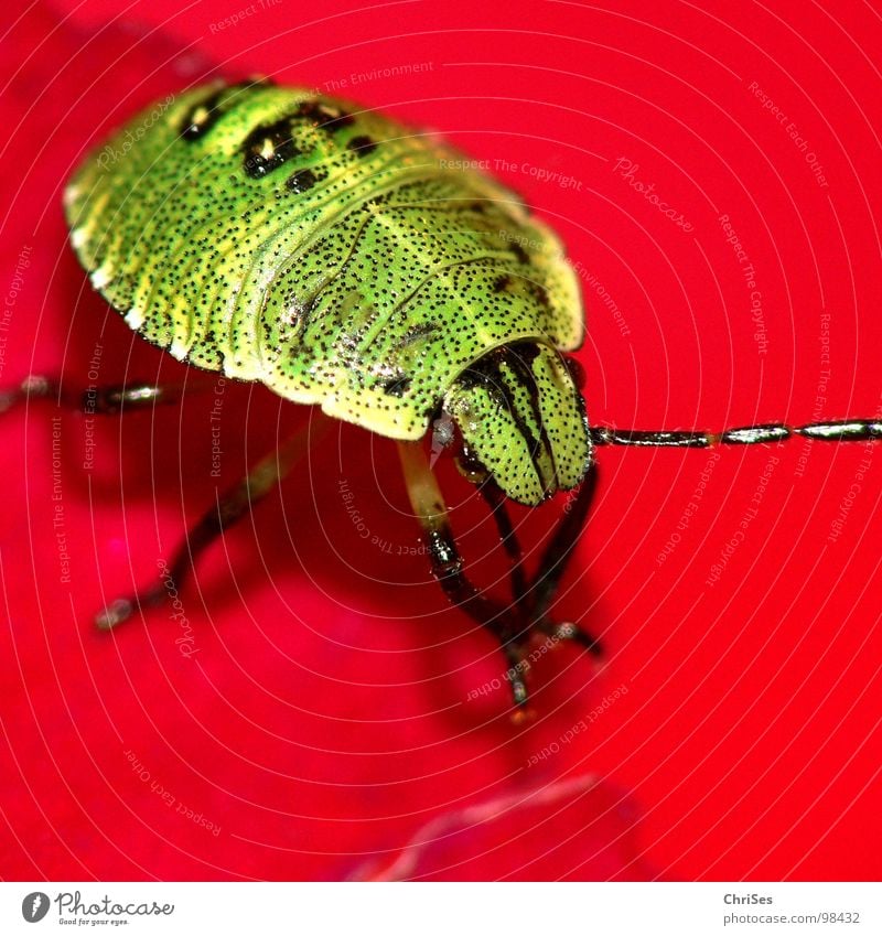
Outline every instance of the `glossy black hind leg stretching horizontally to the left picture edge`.
POLYGON ((79 409, 93 416, 106 416, 130 409, 147 409, 181 400, 184 390, 195 392, 207 390, 208 385, 191 381, 184 384, 118 384, 107 387, 73 388, 56 377, 32 375, 25 377, 18 387, 0 390, 0 412, 6 412, 25 400, 54 399, 60 406, 79 409))

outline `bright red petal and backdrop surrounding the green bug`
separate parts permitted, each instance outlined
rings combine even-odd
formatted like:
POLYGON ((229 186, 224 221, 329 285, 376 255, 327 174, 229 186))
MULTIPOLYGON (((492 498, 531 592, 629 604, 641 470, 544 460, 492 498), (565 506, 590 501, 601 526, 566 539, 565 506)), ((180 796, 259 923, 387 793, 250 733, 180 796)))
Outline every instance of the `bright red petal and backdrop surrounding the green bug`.
MULTIPOLYGON (((21 288, 0 383, 64 369, 85 385, 96 342, 99 383, 181 378, 90 293, 60 196, 87 146, 214 61, 310 86, 345 77, 342 94, 514 163, 498 174, 584 271, 592 422, 875 415, 879 12, 857 0, 606 6, 279 0, 219 29, 248 4, 6 4, 0 288, 21 288), (408 64, 423 67, 370 76, 408 64), (616 174, 620 158, 693 229, 616 174), (765 353, 721 215, 756 269, 765 353)), ((600 667, 569 647, 547 655, 536 718, 516 728, 504 687, 474 698, 504 668, 492 639, 448 609, 422 557, 359 538, 342 480, 392 553, 416 527, 394 447, 352 427, 201 563, 182 592, 191 658, 168 609, 109 637, 90 628, 101 598, 149 580, 214 502, 212 396, 97 423, 90 471, 82 416, 53 423, 51 405, 32 405, 2 417, 0 874, 370 876, 415 840, 427 844, 394 873, 879 878, 879 449, 723 451, 679 530, 708 453, 601 451, 560 613, 601 635, 606 655, 600 667), (558 752, 528 767, 549 745, 558 752)), ((222 486, 308 419, 228 385, 222 486)), ((472 488, 444 478, 463 550, 493 581, 492 527, 472 488)), ((517 514, 528 544, 558 509, 517 514)))

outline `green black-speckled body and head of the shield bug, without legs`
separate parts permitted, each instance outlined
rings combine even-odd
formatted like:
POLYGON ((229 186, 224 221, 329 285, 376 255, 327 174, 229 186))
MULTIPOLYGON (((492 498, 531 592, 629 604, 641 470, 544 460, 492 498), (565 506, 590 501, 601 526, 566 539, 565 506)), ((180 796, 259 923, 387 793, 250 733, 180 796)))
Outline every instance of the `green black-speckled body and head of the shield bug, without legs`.
POLYGON ((97 290, 178 359, 394 439, 442 406, 528 504, 590 449, 557 349, 576 277, 518 197, 433 138, 269 82, 148 108, 66 192, 97 290))

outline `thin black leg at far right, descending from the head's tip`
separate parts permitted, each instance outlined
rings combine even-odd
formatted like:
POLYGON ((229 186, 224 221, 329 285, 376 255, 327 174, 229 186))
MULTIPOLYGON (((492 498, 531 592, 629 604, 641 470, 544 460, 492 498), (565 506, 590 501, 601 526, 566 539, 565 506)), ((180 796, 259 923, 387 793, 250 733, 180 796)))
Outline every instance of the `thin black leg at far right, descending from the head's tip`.
POLYGON ((530 593, 531 612, 536 627, 558 639, 577 641, 594 655, 601 652, 600 643, 590 634, 580 631, 573 624, 552 624, 548 611, 555 600, 560 580, 572 559, 579 536, 584 528, 588 512, 594 496, 598 470, 592 465, 581 486, 568 502, 563 517, 555 530, 551 541, 539 561, 539 569, 533 581, 530 593))

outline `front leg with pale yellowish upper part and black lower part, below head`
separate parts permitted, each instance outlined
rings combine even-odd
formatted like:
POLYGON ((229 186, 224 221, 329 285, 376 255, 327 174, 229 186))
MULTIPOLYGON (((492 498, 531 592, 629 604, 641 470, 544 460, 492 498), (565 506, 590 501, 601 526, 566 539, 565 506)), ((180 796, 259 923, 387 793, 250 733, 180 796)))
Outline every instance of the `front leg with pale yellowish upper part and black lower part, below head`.
POLYGON ((450 529, 448 510, 438 481, 420 442, 399 442, 398 454, 413 513, 422 527, 432 574, 447 596, 473 621, 499 641, 508 660, 506 679, 520 711, 527 703, 521 637, 527 630, 514 607, 504 607, 481 591, 463 573, 464 562, 450 529))

